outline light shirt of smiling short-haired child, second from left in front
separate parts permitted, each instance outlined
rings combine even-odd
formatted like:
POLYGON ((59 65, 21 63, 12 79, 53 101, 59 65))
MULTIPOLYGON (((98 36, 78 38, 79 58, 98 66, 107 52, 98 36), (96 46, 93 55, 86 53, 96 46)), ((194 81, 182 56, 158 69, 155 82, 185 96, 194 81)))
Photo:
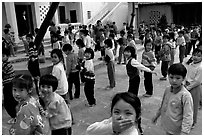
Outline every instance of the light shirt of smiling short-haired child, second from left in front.
POLYGON ((45 109, 48 112, 51 130, 71 127, 71 111, 59 94, 53 92, 51 98, 45 103, 45 109))

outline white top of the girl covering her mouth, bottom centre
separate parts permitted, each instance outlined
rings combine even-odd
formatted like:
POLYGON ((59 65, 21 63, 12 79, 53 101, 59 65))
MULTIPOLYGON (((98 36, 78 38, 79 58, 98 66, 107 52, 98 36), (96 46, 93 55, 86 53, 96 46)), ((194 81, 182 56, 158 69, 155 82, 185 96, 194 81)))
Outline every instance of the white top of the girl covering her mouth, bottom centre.
MULTIPOLYGON (((116 135, 112 128, 112 117, 101 122, 95 122, 91 124, 87 128, 86 133, 88 135, 116 135)), ((135 127, 132 126, 131 128, 126 129, 117 135, 138 135, 138 131, 135 127)))

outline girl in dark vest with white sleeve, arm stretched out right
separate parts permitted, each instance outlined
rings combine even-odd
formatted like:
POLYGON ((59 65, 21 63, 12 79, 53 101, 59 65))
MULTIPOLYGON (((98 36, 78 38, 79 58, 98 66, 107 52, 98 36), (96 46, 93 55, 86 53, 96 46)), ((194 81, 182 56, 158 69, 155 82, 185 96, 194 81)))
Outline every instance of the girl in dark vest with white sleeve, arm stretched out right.
POLYGON ((139 70, 150 72, 156 74, 156 72, 145 67, 136 60, 135 48, 132 46, 127 46, 124 49, 125 57, 127 58, 127 75, 129 76, 129 89, 128 92, 131 92, 138 95, 139 85, 140 85, 140 74, 139 70))

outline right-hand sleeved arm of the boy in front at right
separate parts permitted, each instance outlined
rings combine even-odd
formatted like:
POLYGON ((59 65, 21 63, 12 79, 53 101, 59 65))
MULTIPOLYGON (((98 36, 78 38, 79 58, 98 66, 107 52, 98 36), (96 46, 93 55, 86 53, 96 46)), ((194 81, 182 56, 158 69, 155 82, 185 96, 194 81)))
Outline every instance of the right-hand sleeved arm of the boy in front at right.
POLYGON ((181 100, 183 104, 183 121, 181 132, 189 134, 193 124, 193 99, 191 94, 188 92, 188 94, 182 96, 181 100))

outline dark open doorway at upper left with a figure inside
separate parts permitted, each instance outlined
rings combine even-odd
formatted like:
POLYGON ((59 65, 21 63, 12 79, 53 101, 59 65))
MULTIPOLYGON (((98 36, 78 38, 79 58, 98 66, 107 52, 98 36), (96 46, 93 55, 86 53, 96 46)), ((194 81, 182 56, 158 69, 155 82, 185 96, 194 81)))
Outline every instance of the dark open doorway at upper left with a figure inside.
POLYGON ((31 5, 15 4, 15 12, 19 36, 34 34, 31 5))

